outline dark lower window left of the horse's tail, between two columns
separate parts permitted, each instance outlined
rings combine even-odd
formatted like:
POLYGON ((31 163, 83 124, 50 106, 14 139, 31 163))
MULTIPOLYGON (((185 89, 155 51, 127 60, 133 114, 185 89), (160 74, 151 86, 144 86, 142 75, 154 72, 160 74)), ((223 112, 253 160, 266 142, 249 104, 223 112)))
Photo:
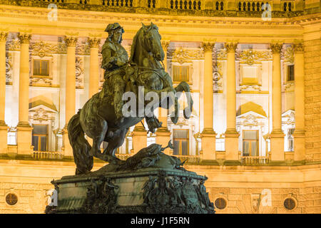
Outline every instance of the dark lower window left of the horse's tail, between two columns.
POLYGON ((32 125, 34 151, 48 151, 48 125, 32 125))

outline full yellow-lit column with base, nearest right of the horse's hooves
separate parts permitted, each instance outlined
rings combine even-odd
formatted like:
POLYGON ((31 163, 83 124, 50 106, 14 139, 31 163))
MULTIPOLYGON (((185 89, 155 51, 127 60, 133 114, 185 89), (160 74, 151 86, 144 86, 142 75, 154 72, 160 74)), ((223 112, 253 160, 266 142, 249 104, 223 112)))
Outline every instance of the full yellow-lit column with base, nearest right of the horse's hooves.
POLYGON ((215 160, 215 137, 213 130, 213 47, 215 43, 204 42, 204 129, 202 138, 202 160, 215 160))

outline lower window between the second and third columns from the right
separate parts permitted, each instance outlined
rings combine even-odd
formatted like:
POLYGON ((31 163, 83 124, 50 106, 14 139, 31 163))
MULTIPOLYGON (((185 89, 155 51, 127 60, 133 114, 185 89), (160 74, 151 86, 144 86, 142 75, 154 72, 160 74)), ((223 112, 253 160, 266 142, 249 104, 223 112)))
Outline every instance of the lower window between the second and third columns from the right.
POLYGON ((243 156, 258 156, 258 130, 243 131, 243 156))

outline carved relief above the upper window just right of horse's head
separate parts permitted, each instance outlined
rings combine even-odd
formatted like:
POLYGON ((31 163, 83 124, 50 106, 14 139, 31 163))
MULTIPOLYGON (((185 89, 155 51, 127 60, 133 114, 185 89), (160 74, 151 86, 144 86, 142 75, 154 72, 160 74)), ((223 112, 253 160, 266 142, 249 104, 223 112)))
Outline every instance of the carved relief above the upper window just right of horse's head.
POLYGON ((175 50, 168 50, 168 58, 172 62, 190 63, 192 60, 204 59, 203 51, 200 48, 176 48, 175 50))

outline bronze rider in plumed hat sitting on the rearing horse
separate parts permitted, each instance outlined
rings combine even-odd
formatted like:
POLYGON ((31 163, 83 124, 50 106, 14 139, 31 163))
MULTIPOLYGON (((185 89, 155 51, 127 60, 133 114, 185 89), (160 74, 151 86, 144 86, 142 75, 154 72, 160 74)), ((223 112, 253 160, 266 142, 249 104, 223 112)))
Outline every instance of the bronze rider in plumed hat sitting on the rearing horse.
POLYGON ((128 53, 121 46, 124 30, 120 24, 114 23, 108 24, 105 31, 108 32, 108 38, 101 50, 103 56, 101 68, 106 70, 104 75, 105 80, 108 80, 109 85, 113 86, 113 105, 116 118, 121 120, 123 118, 121 110, 123 100, 121 98, 126 89, 126 82, 123 80, 123 76, 125 76, 128 66, 128 53))

